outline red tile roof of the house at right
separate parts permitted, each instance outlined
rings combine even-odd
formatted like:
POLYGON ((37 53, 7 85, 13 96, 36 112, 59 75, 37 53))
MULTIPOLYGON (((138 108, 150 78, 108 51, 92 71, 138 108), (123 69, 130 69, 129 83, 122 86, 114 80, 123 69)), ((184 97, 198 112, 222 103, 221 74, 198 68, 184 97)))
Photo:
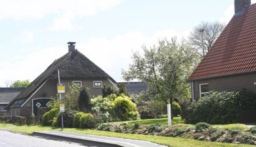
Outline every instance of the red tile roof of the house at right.
POLYGON ((234 15, 189 81, 256 71, 256 4, 234 15))

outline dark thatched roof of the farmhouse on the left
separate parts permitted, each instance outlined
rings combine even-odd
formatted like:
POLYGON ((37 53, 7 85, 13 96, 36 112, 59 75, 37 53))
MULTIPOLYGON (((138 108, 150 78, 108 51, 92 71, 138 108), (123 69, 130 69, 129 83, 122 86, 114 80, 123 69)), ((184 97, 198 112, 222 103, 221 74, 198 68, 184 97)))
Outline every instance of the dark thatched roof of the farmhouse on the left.
MULTIPOLYGON (((46 80, 50 78, 57 79, 58 78, 58 69, 60 70, 60 78, 111 78, 103 69, 94 64, 90 59, 84 56, 82 53, 73 49, 56 59, 43 73, 36 78, 31 84, 21 92, 13 101, 9 103, 7 108, 17 107, 17 105, 13 105, 15 101, 27 100, 46 82, 46 80)), ((113 80, 115 82, 115 80, 113 80)), ((20 104, 19 106, 21 106, 20 104)))

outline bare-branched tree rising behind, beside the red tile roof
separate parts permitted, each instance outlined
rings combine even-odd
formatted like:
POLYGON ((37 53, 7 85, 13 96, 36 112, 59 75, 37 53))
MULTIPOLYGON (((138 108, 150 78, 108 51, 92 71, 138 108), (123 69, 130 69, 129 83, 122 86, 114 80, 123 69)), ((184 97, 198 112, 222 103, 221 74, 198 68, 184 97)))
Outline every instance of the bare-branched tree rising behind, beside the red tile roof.
POLYGON ((194 27, 188 39, 184 39, 184 41, 193 47, 200 57, 204 57, 223 29, 225 29, 224 23, 218 21, 214 23, 202 21, 199 25, 194 27))

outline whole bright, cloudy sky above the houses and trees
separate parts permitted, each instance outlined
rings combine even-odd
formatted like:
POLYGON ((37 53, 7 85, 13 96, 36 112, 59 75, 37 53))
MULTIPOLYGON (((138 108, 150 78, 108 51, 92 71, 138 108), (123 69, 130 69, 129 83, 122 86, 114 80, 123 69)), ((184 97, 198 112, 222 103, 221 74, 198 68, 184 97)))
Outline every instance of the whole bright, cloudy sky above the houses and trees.
MULTIPOLYGON (((0 5, 0 87, 32 82, 68 42, 117 82, 134 51, 189 35, 202 21, 229 23, 233 0, 8 0, 0 5)), ((251 0, 256 3, 256 0, 251 0)))

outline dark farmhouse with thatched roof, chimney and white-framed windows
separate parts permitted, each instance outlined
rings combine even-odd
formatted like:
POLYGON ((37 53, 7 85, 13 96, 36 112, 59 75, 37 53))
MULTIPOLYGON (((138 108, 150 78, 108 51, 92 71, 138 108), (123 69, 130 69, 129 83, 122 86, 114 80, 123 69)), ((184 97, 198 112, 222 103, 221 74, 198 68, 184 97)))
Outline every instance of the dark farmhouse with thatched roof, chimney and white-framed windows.
POLYGON ((75 42, 68 43, 68 53, 56 59, 43 73, 7 105, 9 116, 31 116, 39 107, 48 107, 57 94, 58 70, 65 86, 90 88, 89 94, 99 96, 103 85, 115 86, 116 82, 103 69, 75 49, 75 42))

